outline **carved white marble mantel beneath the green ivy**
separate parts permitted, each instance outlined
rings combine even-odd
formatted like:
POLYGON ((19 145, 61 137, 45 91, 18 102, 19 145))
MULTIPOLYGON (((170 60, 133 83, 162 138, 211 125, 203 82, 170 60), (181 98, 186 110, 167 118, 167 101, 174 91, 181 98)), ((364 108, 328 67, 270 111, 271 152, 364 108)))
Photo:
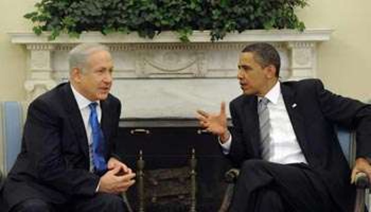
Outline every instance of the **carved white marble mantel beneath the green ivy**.
POLYGON ((29 56, 24 88, 31 101, 68 78, 68 51, 82 42, 109 46, 115 61, 112 93, 124 105, 122 117, 194 117, 202 108, 218 111, 221 101, 240 94, 236 80, 238 53, 249 43, 269 42, 282 60, 282 80, 316 76, 317 44, 329 40, 332 30, 249 30, 211 42, 209 32, 194 32, 189 43, 171 32, 154 39, 135 33, 104 36, 83 33, 79 39, 47 33, 10 33, 12 43, 25 45, 29 56))

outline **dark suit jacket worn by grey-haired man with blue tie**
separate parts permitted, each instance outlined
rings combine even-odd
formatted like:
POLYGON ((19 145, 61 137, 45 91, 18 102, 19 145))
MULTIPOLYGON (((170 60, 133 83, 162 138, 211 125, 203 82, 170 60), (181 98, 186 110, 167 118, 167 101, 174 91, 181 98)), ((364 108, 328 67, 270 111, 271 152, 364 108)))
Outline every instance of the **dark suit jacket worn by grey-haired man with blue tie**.
MULTIPOLYGON (((108 161, 114 155, 121 103, 109 95, 101 109, 108 161)), ((99 176, 89 172, 88 140, 70 84, 58 85, 28 108, 21 152, 3 191, 5 202, 8 208, 27 198, 65 203, 92 196, 98 182, 99 176)))

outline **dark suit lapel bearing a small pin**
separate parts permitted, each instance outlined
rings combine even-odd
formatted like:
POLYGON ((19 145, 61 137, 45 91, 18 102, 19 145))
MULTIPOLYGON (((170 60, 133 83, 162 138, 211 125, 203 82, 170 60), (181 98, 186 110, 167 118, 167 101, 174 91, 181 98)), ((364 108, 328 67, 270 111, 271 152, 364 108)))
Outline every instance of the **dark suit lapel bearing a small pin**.
POLYGON ((285 102, 286 110, 289 114, 290 121, 296 135, 296 139, 298 139, 300 147, 302 150, 304 150, 306 149, 305 125, 304 119, 299 111, 300 105, 298 105, 298 102, 296 102, 295 91, 281 83, 281 92, 283 101, 285 102))

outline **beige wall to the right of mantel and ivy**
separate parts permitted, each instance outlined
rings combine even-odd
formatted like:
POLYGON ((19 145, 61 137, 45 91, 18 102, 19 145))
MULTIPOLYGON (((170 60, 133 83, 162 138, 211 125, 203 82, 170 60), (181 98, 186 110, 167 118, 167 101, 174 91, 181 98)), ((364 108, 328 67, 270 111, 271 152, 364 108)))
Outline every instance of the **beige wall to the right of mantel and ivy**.
POLYGON ((330 90, 363 101, 371 100, 370 0, 310 0, 299 10, 306 27, 334 33, 319 46, 317 76, 330 90))

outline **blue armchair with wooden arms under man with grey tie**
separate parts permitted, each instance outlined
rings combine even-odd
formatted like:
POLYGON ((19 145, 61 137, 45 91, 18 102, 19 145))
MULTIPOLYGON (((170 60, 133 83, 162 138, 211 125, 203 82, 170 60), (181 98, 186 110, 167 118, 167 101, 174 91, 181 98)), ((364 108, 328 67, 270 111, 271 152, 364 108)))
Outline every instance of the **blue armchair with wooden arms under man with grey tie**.
MULTIPOLYGON (((342 128, 336 128, 341 149, 348 160, 349 166, 353 167, 355 161, 355 133, 342 128)), ((219 212, 227 212, 232 200, 234 184, 239 176, 239 169, 230 169, 226 172, 224 180, 228 183, 219 212)), ((364 212, 365 203, 368 205, 366 189, 370 187, 369 179, 365 173, 358 173, 355 180, 357 195, 354 212, 364 212)))

